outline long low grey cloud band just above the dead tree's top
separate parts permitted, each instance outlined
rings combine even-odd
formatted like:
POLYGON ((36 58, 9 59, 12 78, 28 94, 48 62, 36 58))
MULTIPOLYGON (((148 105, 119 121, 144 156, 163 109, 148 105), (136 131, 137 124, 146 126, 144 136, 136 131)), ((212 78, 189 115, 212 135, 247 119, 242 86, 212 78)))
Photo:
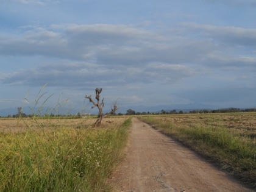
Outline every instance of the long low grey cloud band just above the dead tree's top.
POLYGON ((182 65, 150 63, 140 67, 115 66, 106 68, 96 63, 65 63, 40 65, 38 68, 4 74, 1 81, 8 85, 29 85, 40 87, 83 88, 88 86, 120 86, 137 82, 149 84, 173 84, 187 77, 196 76, 199 71, 182 65))

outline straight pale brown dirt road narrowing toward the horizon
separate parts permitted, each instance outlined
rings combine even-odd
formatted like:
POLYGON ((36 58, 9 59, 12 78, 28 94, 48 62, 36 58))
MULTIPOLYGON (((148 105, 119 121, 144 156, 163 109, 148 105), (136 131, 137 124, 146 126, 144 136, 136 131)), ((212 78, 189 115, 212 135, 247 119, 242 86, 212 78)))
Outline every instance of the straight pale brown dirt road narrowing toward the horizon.
POLYGON ((110 177, 115 191, 254 191, 137 118, 126 157, 110 177))

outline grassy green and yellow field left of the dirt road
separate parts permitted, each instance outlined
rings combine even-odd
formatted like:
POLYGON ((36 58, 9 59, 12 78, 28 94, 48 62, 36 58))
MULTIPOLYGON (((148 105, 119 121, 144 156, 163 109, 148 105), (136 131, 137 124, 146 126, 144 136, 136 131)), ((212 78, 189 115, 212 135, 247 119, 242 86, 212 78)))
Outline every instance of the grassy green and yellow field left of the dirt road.
POLYGON ((130 119, 0 119, 1 191, 110 191, 130 119))

